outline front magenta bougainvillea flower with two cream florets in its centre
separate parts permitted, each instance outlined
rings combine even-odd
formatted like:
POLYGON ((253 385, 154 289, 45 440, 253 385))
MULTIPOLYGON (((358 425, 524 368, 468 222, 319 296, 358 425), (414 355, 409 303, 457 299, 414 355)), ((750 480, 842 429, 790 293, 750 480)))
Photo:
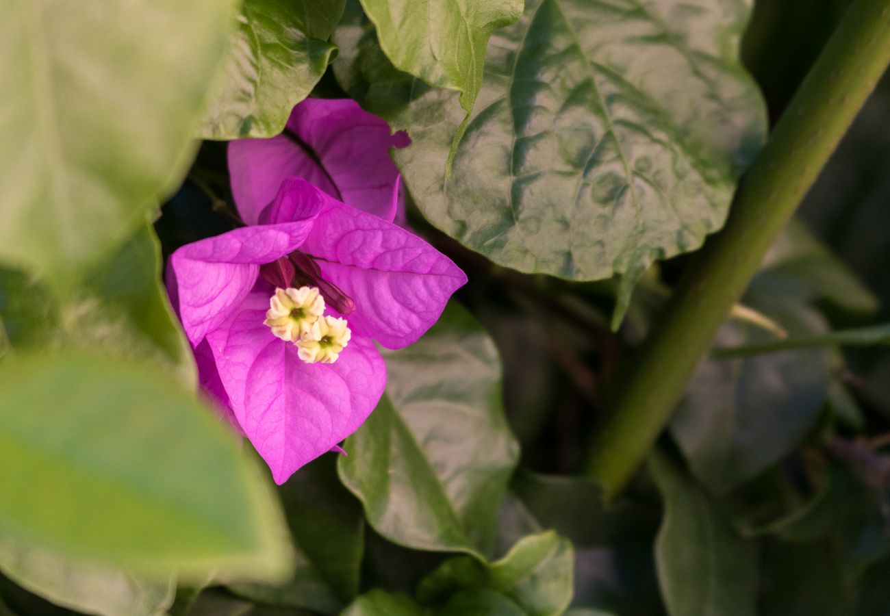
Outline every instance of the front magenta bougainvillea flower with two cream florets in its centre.
POLYGON ((279 483, 374 409, 374 342, 417 340, 465 281, 423 239, 293 177, 254 224, 179 248, 167 271, 204 389, 279 483))

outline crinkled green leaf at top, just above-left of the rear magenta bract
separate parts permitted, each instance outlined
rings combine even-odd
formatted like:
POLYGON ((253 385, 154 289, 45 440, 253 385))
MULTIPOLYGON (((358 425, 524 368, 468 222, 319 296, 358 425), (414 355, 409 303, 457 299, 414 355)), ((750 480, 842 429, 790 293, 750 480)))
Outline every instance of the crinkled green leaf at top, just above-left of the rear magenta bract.
POLYGON ((310 9, 287 0, 245 0, 200 136, 271 137, 284 129, 291 109, 312 92, 336 57, 335 45, 303 34, 330 35, 328 20, 336 6, 322 4, 310 9))

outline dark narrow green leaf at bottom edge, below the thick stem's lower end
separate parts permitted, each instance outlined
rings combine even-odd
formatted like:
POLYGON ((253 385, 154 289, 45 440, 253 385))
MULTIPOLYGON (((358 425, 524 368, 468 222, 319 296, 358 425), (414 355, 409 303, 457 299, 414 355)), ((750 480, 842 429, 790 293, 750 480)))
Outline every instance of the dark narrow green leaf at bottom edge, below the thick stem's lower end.
POLYGON ((741 539, 665 454, 652 454, 650 470, 665 501, 655 558, 667 612, 754 616, 756 542, 741 539))

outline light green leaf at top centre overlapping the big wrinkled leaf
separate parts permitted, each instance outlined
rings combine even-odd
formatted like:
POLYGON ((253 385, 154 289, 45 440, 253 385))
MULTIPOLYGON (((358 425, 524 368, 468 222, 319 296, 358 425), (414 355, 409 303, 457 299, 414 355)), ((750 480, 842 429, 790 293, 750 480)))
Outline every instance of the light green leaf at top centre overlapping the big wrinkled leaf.
POLYGON ((361 0, 392 64, 460 92, 469 112, 482 85, 491 33, 522 16, 522 0, 361 0))

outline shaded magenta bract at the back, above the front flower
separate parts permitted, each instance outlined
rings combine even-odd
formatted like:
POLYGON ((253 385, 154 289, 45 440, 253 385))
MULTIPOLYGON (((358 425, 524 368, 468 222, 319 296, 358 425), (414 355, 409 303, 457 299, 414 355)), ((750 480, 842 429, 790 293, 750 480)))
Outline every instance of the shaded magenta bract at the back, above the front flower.
POLYGON ((248 224, 259 220, 289 175, 312 182, 347 205, 392 221, 399 171, 390 148, 408 135, 390 134, 382 118, 350 99, 306 99, 291 112, 285 133, 229 144, 231 190, 248 224))

